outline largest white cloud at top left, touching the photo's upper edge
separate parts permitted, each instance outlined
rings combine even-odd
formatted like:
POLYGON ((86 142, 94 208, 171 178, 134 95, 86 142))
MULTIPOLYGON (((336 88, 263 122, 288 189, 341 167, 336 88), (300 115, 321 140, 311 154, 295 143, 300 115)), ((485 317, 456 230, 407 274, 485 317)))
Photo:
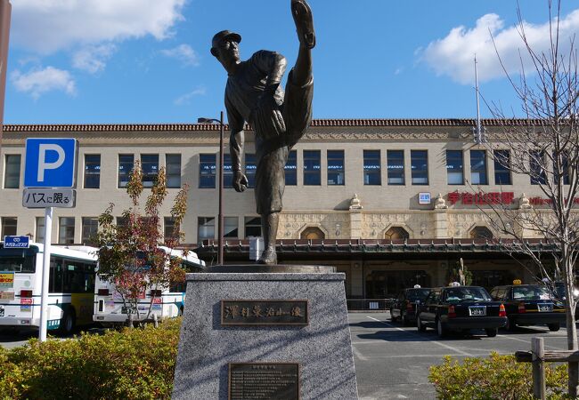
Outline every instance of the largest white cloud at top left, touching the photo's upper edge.
POLYGON ((185 1, 17 0, 11 40, 42 54, 147 35, 160 40, 183 20, 185 1))

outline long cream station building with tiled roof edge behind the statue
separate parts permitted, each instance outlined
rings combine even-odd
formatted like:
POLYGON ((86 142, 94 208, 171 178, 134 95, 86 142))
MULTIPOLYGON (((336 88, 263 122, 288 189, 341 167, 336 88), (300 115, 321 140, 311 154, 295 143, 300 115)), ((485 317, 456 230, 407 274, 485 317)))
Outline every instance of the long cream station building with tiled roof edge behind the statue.
MULTIPOLYGON (((492 142, 503 121, 483 120, 492 142)), ((513 123, 513 121, 510 121, 513 123)), ((525 121, 514 121, 525 124, 525 121)), ((413 284, 446 284, 462 262, 474 284, 492 287, 533 278, 528 260, 496 243, 488 204, 542 206, 537 185, 496 163, 507 148, 477 143, 472 119, 314 120, 290 152, 277 237, 278 261, 334 265, 346 273, 347 297, 384 298, 413 284), (527 268, 529 267, 529 268, 527 268)), ((243 168, 249 189, 232 188, 225 126, 224 260, 247 263, 249 237, 260 236, 255 210, 255 147, 246 133, 243 168)), ((76 138, 76 207, 54 209, 53 243, 90 244, 110 203, 129 206, 128 174, 143 165, 151 186, 160 167, 168 193, 161 209, 172 231, 171 202, 189 186, 184 246, 208 265, 217 258, 219 126, 215 124, 5 125, 0 163, 0 235, 44 240, 44 209, 22 207, 25 140, 76 138)), ((146 192, 145 192, 146 194, 146 192)), ((529 240, 539 237, 526 232, 529 240)))

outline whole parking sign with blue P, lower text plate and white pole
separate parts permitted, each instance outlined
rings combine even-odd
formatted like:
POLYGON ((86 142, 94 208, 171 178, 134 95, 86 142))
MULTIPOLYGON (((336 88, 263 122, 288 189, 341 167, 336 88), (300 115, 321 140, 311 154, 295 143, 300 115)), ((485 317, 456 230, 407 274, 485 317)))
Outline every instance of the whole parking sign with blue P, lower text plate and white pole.
POLYGON ((45 249, 42 256, 42 292, 38 340, 46 340, 48 330, 48 282, 53 232, 53 207, 75 206, 74 177, 77 140, 27 139, 22 205, 45 208, 45 249))

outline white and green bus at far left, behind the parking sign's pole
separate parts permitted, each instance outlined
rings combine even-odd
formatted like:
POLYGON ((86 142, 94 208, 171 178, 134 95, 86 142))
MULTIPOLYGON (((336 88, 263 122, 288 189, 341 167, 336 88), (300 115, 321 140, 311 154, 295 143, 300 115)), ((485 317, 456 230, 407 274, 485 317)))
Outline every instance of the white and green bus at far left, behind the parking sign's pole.
MULTIPOLYGON (((96 250, 51 245, 48 330, 93 324, 96 250)), ((39 327, 43 244, 5 249, 0 242, 0 328, 39 327)))

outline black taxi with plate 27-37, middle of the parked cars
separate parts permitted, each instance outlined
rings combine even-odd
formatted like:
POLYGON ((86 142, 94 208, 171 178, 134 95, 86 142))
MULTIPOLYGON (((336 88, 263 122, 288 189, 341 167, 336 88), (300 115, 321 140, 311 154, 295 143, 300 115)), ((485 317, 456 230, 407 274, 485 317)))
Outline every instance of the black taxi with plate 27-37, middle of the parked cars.
POLYGON ((501 301, 493 301, 481 286, 446 286, 432 289, 420 303, 416 325, 420 332, 427 326, 444 337, 450 331, 468 332, 484 329, 489 337, 496 336, 498 328, 507 324, 501 301))

